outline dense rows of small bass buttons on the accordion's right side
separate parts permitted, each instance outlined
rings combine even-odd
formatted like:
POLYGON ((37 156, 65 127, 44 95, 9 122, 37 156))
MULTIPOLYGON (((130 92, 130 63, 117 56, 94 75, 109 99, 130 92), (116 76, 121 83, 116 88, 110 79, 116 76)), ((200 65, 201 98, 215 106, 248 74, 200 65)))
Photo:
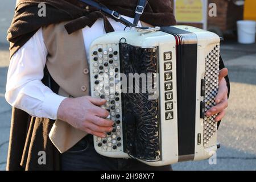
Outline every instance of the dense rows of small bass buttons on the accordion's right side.
MULTIPOLYGON (((205 60, 205 113, 216 105, 215 97, 218 93, 218 75, 220 60, 220 46, 215 46, 205 60)), ((209 141, 217 132, 216 115, 204 118, 204 147, 209 147, 209 141)))

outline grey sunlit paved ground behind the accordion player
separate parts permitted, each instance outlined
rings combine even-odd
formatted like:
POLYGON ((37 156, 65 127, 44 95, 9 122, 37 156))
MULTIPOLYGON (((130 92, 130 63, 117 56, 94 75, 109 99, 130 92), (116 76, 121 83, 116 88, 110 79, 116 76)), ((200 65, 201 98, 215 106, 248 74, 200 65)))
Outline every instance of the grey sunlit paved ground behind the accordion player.
MULTIPOLYGON (((4 6, 0 7, 0 170, 4 170, 11 115, 11 107, 4 98, 9 64, 5 36, 15 0, 1 3, 4 6)), ((221 148, 217 165, 210 166, 208 160, 184 162, 175 164, 175 170, 256 170, 256 44, 225 42, 222 56, 229 68, 232 92, 226 118, 218 131, 221 148)))

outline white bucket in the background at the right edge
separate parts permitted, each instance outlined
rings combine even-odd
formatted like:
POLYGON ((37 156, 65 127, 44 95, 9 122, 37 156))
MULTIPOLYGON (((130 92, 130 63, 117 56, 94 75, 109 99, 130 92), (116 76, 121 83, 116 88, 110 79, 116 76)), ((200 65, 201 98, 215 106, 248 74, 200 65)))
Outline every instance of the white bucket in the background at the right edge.
POLYGON ((237 21, 238 42, 241 44, 255 43, 256 22, 251 20, 237 21))

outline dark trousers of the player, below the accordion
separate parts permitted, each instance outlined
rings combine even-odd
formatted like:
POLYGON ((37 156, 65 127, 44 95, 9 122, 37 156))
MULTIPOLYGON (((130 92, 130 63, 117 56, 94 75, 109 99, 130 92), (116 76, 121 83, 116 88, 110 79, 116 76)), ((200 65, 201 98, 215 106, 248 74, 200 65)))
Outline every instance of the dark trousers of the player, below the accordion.
POLYGON ((87 135, 67 152, 61 154, 63 171, 171 171, 171 166, 152 167, 135 159, 107 158, 98 154, 93 136, 87 135))

